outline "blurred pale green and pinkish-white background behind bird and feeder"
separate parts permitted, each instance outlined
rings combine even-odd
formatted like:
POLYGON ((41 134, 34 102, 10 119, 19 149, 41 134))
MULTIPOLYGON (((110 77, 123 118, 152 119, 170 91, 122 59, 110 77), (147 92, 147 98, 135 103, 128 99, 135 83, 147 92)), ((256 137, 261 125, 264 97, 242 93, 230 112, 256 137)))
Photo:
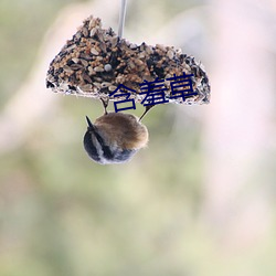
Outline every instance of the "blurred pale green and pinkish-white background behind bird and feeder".
POLYGON ((89 14, 117 31, 119 6, 0 2, 0 275, 275 276, 276 1, 129 0, 124 36, 194 55, 212 98, 153 108, 148 148, 99 166, 82 139, 102 104, 45 75, 89 14))

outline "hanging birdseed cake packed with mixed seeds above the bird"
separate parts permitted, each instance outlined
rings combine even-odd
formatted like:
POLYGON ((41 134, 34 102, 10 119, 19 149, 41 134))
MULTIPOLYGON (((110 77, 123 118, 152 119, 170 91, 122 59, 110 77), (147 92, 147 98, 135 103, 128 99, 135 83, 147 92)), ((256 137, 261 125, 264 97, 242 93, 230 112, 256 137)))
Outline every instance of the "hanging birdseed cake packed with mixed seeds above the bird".
MULTIPOLYGON (((141 103, 141 84, 163 79, 166 99, 177 104, 208 104, 208 75, 193 56, 173 46, 136 45, 103 29, 100 19, 89 17, 50 64, 46 87, 53 92, 84 97, 109 98, 118 85, 130 89, 130 98, 141 103), (168 78, 190 75, 194 95, 171 97, 168 78)), ((125 98, 125 97, 124 97, 125 98)), ((120 97, 116 97, 116 100, 120 97)))

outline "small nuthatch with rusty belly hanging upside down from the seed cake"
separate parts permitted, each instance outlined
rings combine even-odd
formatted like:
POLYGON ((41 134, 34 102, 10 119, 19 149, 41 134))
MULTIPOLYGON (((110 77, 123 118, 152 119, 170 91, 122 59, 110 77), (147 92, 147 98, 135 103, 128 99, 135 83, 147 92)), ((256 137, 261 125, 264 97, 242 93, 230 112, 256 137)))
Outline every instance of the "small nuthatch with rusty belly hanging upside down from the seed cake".
POLYGON ((140 120, 124 113, 107 113, 94 124, 86 116, 88 124, 84 135, 84 148, 97 163, 123 163, 129 161, 141 148, 147 146, 148 129, 140 120))

